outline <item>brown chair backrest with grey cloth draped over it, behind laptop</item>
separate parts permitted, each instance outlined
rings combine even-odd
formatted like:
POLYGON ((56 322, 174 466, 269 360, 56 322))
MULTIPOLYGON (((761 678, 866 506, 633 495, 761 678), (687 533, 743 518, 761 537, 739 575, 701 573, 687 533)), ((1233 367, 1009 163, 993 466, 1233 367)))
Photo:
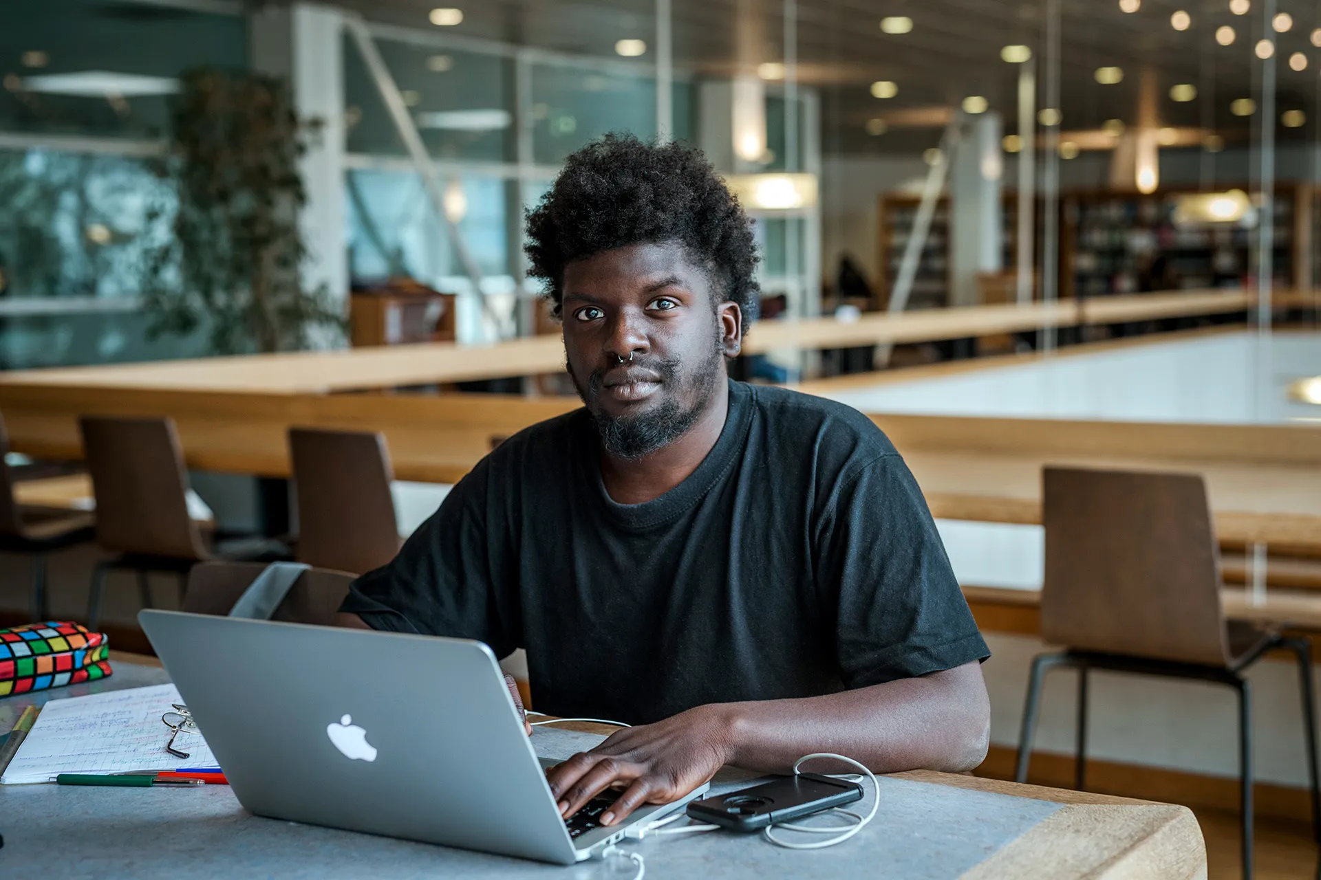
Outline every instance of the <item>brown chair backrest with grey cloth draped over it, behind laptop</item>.
MULTIPOLYGON (((243 591, 266 569, 263 562, 202 562, 188 573, 182 610, 199 615, 227 615, 243 591)), ((353 575, 346 571, 308 569, 293 583, 271 620, 334 624, 336 611, 349 594, 353 575)))

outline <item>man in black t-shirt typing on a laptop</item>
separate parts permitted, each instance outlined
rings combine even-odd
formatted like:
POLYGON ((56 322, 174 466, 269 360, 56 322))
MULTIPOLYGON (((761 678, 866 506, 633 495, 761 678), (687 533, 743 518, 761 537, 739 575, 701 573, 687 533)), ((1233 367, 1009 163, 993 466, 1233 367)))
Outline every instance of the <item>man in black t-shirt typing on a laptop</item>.
POLYGON ((341 621, 526 648, 539 710, 635 724, 551 773, 565 815, 820 751, 976 767, 988 652, 904 460, 853 409, 728 379, 756 253, 700 153, 606 136, 528 239, 585 409, 480 462, 341 621))

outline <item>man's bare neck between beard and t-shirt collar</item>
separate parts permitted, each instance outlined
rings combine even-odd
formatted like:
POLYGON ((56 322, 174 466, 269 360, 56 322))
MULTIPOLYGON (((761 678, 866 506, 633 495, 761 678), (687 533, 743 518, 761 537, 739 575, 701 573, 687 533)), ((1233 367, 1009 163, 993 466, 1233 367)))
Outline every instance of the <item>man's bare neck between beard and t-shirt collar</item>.
POLYGON ((601 451, 601 482, 616 504, 655 500, 688 479, 720 439, 729 414, 729 383, 719 381, 687 434, 650 455, 621 459, 601 451))

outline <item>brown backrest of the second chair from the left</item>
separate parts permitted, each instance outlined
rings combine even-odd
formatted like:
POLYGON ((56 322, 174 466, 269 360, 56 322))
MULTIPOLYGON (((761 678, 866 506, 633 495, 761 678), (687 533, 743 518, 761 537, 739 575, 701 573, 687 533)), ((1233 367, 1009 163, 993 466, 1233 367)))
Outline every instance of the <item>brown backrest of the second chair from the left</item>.
POLYGON ((206 545, 188 515, 174 422, 102 416, 78 421, 96 496, 96 542, 120 553, 206 559, 206 545))

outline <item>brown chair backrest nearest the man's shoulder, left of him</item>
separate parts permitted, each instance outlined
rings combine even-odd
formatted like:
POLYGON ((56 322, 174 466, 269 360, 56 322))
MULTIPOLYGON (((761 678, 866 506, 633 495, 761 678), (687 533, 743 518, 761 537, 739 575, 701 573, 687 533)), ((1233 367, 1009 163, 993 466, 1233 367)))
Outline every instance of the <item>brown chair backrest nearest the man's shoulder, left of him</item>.
POLYGON ((289 429, 299 496, 299 562, 363 574, 399 551, 386 438, 369 431, 289 429))

